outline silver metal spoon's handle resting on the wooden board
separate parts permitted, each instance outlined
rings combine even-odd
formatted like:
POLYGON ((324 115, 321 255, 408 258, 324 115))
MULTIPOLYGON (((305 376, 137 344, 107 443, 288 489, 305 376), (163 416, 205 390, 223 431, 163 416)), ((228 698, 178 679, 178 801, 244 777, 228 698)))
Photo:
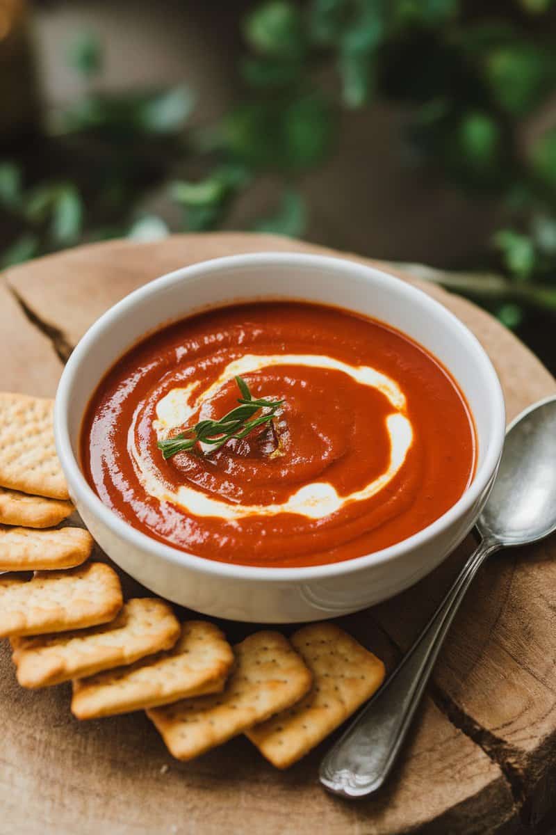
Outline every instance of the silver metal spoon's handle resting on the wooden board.
POLYGON ((499 547, 493 540, 483 539, 392 676, 328 751, 319 777, 330 792, 343 797, 363 797, 383 785, 423 696, 453 616, 479 566, 499 547))

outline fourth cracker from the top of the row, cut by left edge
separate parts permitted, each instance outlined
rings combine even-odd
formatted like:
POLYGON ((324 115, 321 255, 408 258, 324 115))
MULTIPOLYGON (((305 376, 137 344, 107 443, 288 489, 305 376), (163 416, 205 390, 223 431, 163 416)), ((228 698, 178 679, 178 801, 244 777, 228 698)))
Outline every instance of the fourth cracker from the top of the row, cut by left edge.
POLYGON ((0 638, 42 635, 107 623, 122 608, 118 574, 104 563, 0 577, 0 638))

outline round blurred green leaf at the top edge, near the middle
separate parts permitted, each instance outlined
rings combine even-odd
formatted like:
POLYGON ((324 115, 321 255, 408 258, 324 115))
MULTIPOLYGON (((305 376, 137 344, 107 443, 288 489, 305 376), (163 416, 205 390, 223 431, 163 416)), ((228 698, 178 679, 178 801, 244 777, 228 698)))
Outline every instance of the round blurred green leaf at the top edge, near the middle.
POLYGON ((273 58, 294 58, 303 53, 303 22, 297 6, 287 0, 268 0, 249 13, 243 33, 256 52, 273 58))

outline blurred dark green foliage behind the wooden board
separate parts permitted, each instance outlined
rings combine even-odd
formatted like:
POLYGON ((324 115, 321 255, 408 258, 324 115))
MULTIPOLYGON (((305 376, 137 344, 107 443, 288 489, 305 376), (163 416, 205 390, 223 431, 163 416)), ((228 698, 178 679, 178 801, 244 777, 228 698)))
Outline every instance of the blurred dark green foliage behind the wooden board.
POLYGON ((556 102, 552 7, 267 0, 240 24, 243 99, 203 129, 188 128, 195 103, 186 88, 103 94, 102 49, 85 34, 68 60, 89 92, 43 124, 48 177, 37 164, 0 161, 0 220, 12 230, 0 263, 82 240, 164 235, 164 220, 137 208, 161 187, 180 230, 217 228, 269 172, 283 197, 253 228, 303 235, 311 207, 296 183, 333 154, 341 110, 388 100, 408 113, 400 148, 409 144, 421 164, 498 205, 501 228, 476 254, 488 273, 461 276, 458 290, 509 326, 530 308, 556 311, 556 115, 523 139, 528 119, 556 102), (331 69, 335 85, 323 81, 331 69))

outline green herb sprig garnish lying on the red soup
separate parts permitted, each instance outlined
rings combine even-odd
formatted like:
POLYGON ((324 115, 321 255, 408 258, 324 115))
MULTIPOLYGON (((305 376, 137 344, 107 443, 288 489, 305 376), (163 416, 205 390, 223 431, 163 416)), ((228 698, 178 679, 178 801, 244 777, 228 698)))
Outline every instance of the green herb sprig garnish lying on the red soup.
POLYGON ((199 443, 210 443, 213 448, 209 449, 206 454, 215 453, 231 438, 245 438, 253 429, 273 420, 283 400, 255 399, 243 377, 234 379, 241 392, 241 397, 238 397, 240 405, 220 420, 199 421, 195 426, 183 429, 183 432, 174 438, 158 441, 158 449, 162 450, 165 460, 172 458, 176 453, 191 452, 199 443), (265 410, 265 413, 259 417, 253 417, 261 409, 265 410))

